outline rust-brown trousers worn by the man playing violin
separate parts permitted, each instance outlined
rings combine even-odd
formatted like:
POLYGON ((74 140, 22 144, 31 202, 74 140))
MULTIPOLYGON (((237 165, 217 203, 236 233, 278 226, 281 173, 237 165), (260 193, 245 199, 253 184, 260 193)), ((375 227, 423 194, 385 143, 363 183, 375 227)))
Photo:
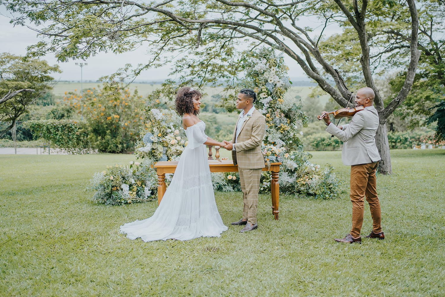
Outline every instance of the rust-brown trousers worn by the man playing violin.
POLYGON ((376 191, 376 169, 379 162, 351 166, 352 237, 359 237, 363 224, 364 197, 369 203, 372 231, 382 232, 380 202, 376 191))

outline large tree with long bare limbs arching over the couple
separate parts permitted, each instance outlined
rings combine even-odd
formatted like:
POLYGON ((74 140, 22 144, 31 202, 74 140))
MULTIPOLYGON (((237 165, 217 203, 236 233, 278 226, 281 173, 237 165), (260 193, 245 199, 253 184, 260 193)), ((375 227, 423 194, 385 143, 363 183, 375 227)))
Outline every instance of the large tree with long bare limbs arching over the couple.
MULTIPOLYGON (((376 91, 376 108, 380 124, 376 142, 382 161, 381 173, 391 173, 386 119, 406 98, 413 84, 417 69, 418 17, 414 0, 397 2, 362 0, 297 0, 231 2, 229 0, 165 0, 143 4, 129 0, 1 0, 7 9, 15 13, 13 24, 31 21, 43 36, 50 41, 41 41, 28 49, 35 55, 56 53, 60 61, 83 58, 100 51, 120 53, 148 42, 152 59, 133 70, 137 75, 144 69, 171 61, 162 59, 164 53, 188 53, 176 63, 176 73, 186 73, 182 79, 198 81, 200 85, 215 85, 221 79, 235 81, 239 73, 239 49, 247 51, 260 44, 278 49, 299 63, 304 72, 314 79, 325 92, 341 106, 348 104, 350 91, 340 72, 325 58, 320 49, 319 36, 312 28, 298 25, 301 18, 323 18, 326 26, 334 21, 345 26, 358 36, 360 72, 365 85, 376 91), (392 10, 409 15, 409 23, 396 26, 395 32, 409 37, 407 75, 400 92, 384 107, 384 98, 375 85, 372 67, 373 57, 384 57, 392 49, 390 33, 375 36, 368 26, 392 28, 395 18, 392 10), (312 37, 311 37, 312 35, 312 37), (380 42, 372 42, 373 37, 380 42), (386 43, 383 41, 386 40, 386 43), (382 48, 382 42, 387 45, 382 48), (329 80, 335 82, 331 85, 329 80)), ((397 18, 397 15, 396 15, 397 18)), ((341 70, 341 69, 340 69, 341 70)), ((233 94, 227 94, 228 102, 233 94)), ((351 104, 350 104, 351 105, 351 104)))

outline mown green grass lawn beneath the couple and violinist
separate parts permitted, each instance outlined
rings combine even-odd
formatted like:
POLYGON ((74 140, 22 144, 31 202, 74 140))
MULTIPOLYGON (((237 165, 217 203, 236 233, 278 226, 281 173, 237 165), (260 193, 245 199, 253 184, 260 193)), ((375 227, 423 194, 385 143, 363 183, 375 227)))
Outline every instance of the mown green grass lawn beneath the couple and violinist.
MULTIPOLYGON (((312 153, 348 182, 340 151, 312 153)), ((391 153, 393 175, 377 178, 386 239, 363 244, 333 240, 350 229, 348 194, 281 195, 279 221, 261 195, 259 228, 242 234, 241 195, 218 192, 221 237, 129 240, 119 226, 157 203, 106 207, 84 189, 133 155, 0 155, 0 296, 445 296, 445 150, 391 153)))

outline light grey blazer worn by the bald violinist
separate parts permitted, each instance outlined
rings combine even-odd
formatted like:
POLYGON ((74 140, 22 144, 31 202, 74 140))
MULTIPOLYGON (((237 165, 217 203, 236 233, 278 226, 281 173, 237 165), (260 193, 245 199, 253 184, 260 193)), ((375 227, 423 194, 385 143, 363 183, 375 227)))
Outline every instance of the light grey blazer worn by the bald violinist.
POLYGON ((380 160, 376 146, 376 132, 379 126, 379 114, 374 106, 356 113, 349 124, 340 130, 333 123, 326 131, 343 141, 341 160, 344 165, 357 165, 380 160))

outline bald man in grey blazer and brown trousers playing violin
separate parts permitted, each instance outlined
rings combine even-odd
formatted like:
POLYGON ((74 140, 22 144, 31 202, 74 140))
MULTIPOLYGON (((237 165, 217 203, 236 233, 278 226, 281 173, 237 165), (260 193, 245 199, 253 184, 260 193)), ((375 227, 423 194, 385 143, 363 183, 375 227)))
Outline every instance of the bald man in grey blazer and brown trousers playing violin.
POLYGON ((352 202, 352 228, 346 237, 334 239, 338 242, 361 243, 364 197, 369 203, 373 221, 372 231, 366 238, 385 238, 380 225, 380 202, 376 191, 376 169, 380 155, 374 139, 379 126, 379 115, 373 106, 374 97, 375 94, 371 88, 362 88, 357 91, 356 106, 363 106, 364 110, 354 114, 349 124, 337 127, 330 121, 329 114, 323 117, 328 126, 326 131, 344 142, 341 159, 344 165, 351 166, 349 196, 352 202))

